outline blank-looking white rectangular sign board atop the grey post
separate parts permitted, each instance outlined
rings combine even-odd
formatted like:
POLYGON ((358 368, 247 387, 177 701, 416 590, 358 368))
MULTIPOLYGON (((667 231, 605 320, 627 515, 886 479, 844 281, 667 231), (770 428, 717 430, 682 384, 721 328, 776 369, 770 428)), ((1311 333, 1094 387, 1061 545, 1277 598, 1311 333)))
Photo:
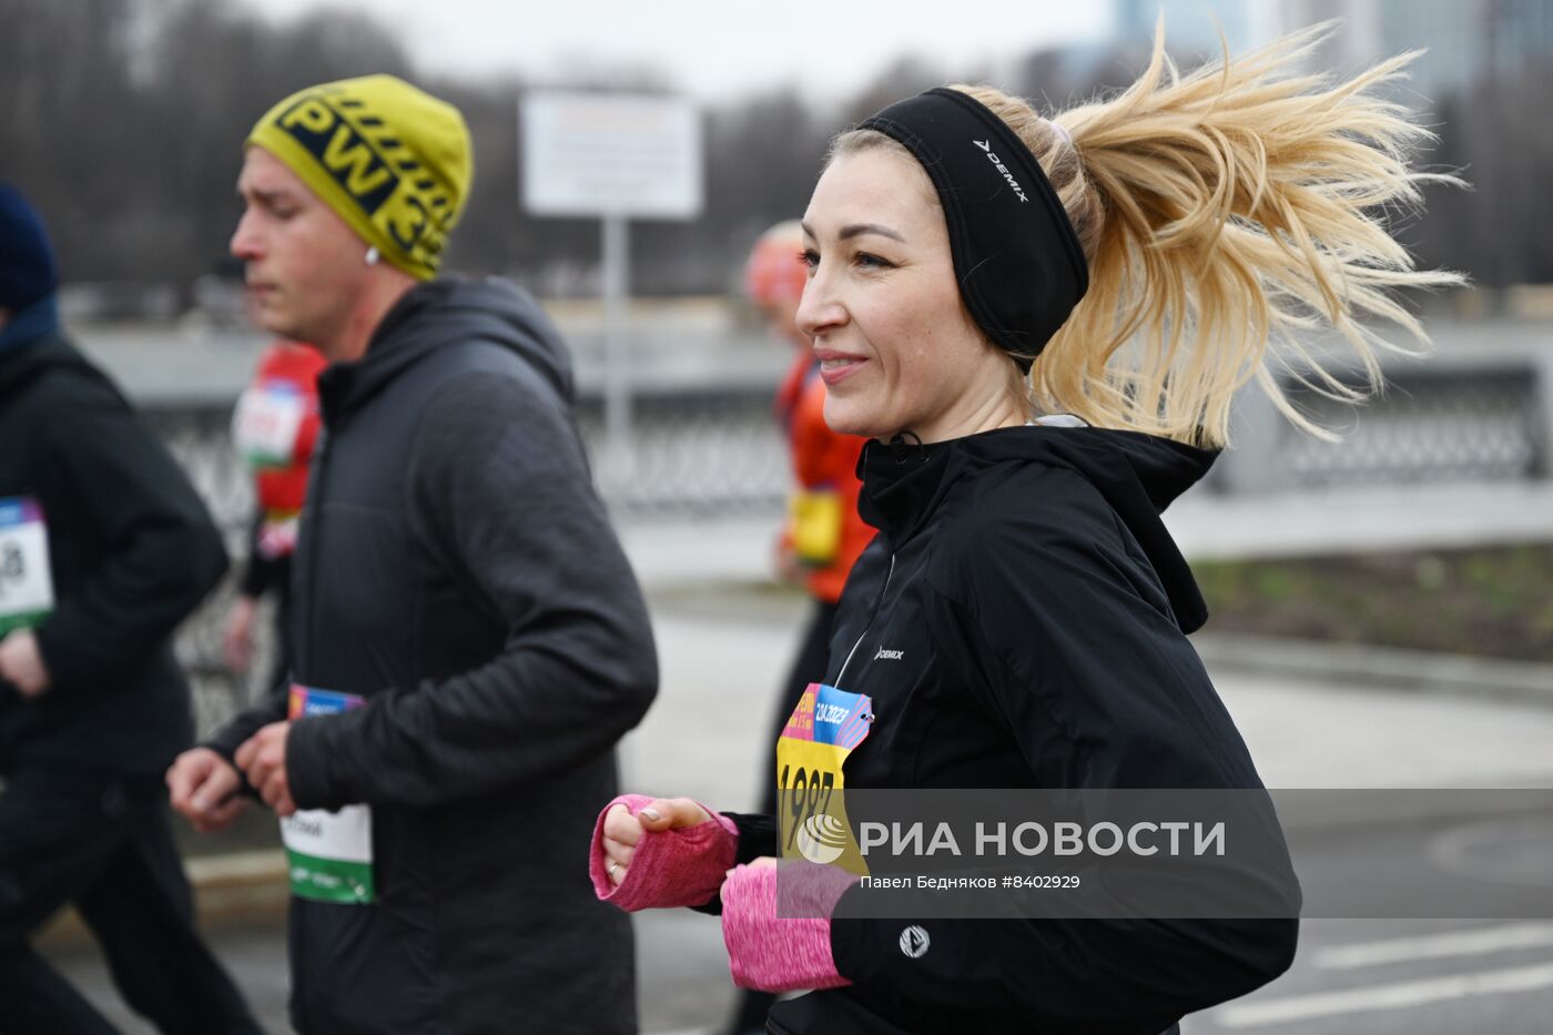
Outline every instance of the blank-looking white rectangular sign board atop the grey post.
POLYGON ((533 92, 522 129, 523 207, 536 216, 700 214, 700 117, 690 101, 533 92))

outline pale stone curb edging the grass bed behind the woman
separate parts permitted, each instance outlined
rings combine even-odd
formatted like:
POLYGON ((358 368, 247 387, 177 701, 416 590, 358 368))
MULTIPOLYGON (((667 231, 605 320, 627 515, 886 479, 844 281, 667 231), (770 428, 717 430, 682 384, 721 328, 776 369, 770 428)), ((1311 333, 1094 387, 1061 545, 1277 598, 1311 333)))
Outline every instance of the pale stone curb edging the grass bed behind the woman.
POLYGON ((1210 671, 1553 707, 1553 665, 1542 662, 1263 636, 1205 634, 1191 642, 1210 671))

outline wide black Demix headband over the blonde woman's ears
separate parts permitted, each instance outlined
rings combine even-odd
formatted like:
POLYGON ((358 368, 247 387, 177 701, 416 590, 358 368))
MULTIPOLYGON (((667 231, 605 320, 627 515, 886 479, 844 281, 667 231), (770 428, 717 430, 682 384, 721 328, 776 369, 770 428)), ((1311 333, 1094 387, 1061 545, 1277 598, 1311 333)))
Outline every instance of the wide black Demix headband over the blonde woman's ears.
POLYGON ((1028 373, 1027 357, 1089 289, 1084 249, 1041 163, 986 106, 944 87, 896 101, 859 129, 901 141, 927 171, 949 224, 960 297, 1028 373))

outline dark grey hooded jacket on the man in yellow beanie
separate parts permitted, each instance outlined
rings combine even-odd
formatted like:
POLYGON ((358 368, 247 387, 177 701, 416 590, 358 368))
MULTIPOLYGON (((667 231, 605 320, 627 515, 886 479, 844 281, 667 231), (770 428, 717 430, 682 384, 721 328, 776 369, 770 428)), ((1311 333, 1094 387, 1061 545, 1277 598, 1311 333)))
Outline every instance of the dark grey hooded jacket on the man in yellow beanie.
MULTIPOLYGON (((412 289, 318 381, 292 561, 300 808, 371 807, 379 901, 292 900, 307 1035, 635 1032, 631 920, 585 867, 615 741, 657 690, 559 334, 502 281, 412 289)), ((284 701, 211 743, 231 757, 284 701)))

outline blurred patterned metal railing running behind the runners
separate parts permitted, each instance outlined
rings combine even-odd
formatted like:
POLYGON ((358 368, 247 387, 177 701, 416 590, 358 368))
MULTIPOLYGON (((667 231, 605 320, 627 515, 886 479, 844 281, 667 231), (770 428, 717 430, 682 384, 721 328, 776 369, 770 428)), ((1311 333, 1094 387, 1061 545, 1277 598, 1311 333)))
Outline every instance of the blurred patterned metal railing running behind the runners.
MULTIPOLYGON (((1387 393, 1359 410, 1357 420, 1339 402, 1295 393, 1315 420, 1351 424, 1345 441, 1332 446, 1312 440, 1277 413, 1270 421, 1263 413, 1250 421, 1252 430, 1263 434, 1249 434, 1242 449, 1227 454, 1213 485, 1219 491, 1252 493, 1547 477, 1545 390, 1537 371, 1527 367, 1419 370, 1393 378, 1387 393)), ((787 458, 767 389, 691 389, 638 396, 623 463, 603 462, 604 415, 598 396, 582 398, 576 418, 593 457, 599 493, 618 521, 770 514, 775 524, 781 513, 787 458)), ((148 420, 189 471, 225 531, 233 558, 241 558, 253 490, 231 449, 228 409, 155 406, 148 409, 148 420)), ((262 671, 235 676, 222 664, 222 625, 235 587, 236 572, 179 636, 202 730, 253 699, 264 678, 262 671)), ((261 626, 267 637, 267 623, 261 626)), ((259 650, 266 646, 261 642, 259 650)))

